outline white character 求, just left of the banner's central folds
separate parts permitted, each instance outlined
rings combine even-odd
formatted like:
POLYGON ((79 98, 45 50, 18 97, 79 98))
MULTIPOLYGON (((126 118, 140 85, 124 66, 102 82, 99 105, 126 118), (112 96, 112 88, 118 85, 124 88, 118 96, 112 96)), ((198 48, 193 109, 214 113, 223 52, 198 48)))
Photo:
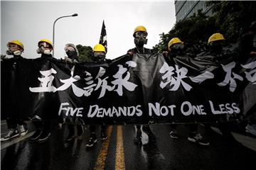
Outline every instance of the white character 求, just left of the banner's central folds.
MULTIPOLYGON (((137 64, 136 62, 126 62, 126 64, 128 64, 129 67, 136 67, 137 64)), ((117 65, 119 67, 119 70, 116 74, 113 75, 114 78, 116 78, 114 81, 112 81, 112 84, 114 84, 113 88, 115 88, 115 86, 117 86, 117 89, 115 89, 114 91, 117 91, 117 94, 119 96, 122 96, 123 94, 123 90, 122 87, 124 86, 125 89, 127 89, 128 91, 134 91, 134 89, 137 87, 137 84, 134 84, 132 82, 129 82, 129 77, 130 77, 130 73, 127 72, 127 68, 124 68, 122 65, 118 64, 117 65), (127 72, 126 77, 124 77, 124 79, 122 79, 123 74, 125 74, 127 72)))

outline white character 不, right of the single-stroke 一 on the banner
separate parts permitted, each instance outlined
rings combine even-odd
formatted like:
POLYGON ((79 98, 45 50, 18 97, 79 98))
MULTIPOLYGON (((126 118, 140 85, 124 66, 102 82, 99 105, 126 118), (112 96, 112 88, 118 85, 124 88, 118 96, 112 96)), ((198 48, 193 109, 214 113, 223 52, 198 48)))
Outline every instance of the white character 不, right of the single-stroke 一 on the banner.
POLYGON ((232 69, 235 67, 235 62, 230 62, 229 64, 226 64, 226 65, 221 64, 221 65, 227 74, 225 75, 225 79, 223 80, 223 82, 220 82, 218 86, 226 86, 227 84, 230 84, 229 89, 231 92, 234 92, 237 86, 235 79, 238 79, 240 81, 243 80, 240 75, 232 72, 232 69))

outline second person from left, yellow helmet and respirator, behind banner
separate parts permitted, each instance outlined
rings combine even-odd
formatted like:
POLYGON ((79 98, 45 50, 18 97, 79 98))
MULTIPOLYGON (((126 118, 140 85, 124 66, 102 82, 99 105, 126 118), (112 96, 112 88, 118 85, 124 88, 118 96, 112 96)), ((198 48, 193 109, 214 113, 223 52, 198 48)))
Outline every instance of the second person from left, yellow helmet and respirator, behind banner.
MULTIPOLYGON (((40 40, 38 42, 38 49, 36 52, 41 54, 41 58, 52 58, 51 52, 53 50, 53 43, 50 40, 40 40)), ((50 137, 50 121, 43 120, 40 116, 35 115, 32 118, 33 125, 36 132, 31 136, 31 141, 44 142, 50 137)))

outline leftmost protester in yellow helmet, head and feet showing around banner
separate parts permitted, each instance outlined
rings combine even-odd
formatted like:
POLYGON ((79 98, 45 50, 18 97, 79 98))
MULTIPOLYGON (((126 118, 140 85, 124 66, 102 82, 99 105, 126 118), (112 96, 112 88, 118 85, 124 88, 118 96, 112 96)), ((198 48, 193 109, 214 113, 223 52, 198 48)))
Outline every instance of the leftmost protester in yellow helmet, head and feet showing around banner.
MULTIPOLYGON (((11 59, 20 60, 23 58, 21 56, 22 52, 24 51, 22 42, 19 40, 12 40, 7 43, 7 47, 8 50, 6 51, 6 54, 12 55, 13 57, 11 59)), ((1 141, 10 140, 11 138, 18 137, 19 135, 25 136, 28 132, 28 125, 20 118, 13 118, 12 116, 9 116, 9 118, 6 119, 6 123, 9 132, 7 132, 7 135, 1 138, 1 141)))

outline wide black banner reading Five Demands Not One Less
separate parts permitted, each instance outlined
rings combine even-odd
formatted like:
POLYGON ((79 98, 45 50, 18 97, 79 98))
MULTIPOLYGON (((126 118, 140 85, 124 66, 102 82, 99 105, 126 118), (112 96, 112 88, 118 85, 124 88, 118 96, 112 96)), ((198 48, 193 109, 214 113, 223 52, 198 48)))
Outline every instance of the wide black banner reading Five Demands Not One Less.
POLYGON ((1 62, 1 119, 75 124, 194 123, 256 120, 256 60, 245 63, 159 54, 112 62, 55 59, 1 62))

